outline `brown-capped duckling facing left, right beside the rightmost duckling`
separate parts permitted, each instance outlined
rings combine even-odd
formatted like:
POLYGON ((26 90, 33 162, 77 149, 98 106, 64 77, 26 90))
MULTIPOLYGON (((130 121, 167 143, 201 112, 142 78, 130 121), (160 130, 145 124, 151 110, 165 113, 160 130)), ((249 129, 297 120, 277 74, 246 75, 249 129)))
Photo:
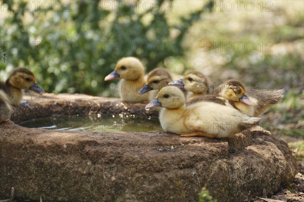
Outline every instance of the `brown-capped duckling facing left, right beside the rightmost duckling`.
POLYGON ((183 79, 172 81, 169 85, 184 88, 192 93, 187 95, 187 100, 209 94, 210 80, 201 72, 190 72, 183 79))

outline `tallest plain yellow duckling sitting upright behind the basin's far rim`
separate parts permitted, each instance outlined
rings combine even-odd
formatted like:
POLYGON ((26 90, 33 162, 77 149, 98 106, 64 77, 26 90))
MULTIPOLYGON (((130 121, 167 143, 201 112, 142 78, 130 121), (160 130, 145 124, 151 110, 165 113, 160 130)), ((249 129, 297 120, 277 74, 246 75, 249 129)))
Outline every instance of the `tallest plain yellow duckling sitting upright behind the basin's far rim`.
POLYGON ((138 95, 137 92, 146 83, 145 68, 134 57, 122 58, 116 64, 115 70, 107 75, 104 80, 121 79, 120 97, 130 103, 141 103, 148 100, 149 93, 138 95))

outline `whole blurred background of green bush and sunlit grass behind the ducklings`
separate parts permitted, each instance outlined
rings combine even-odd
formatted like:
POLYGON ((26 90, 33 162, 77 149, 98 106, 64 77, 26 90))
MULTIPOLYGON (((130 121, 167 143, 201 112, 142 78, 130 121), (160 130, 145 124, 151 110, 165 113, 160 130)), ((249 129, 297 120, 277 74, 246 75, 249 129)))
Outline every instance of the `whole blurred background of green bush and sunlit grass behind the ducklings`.
POLYGON ((117 96, 103 79, 134 56, 147 72, 199 70, 216 85, 284 88, 262 121, 304 166, 303 1, 37 2, 1 1, 2 80, 24 66, 47 92, 117 96))

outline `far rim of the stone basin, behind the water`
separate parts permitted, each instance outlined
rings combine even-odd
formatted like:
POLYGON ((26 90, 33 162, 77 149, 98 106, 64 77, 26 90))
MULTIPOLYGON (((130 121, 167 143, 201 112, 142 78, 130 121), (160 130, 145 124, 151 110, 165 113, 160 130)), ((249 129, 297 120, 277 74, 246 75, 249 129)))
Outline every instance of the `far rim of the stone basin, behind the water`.
POLYGON ((15 123, 50 116, 87 115, 87 114, 135 114, 138 116, 158 116, 156 110, 145 111, 146 104, 129 104, 118 98, 96 97, 85 94, 44 93, 26 95, 29 107, 20 104, 15 108, 12 120, 15 123))

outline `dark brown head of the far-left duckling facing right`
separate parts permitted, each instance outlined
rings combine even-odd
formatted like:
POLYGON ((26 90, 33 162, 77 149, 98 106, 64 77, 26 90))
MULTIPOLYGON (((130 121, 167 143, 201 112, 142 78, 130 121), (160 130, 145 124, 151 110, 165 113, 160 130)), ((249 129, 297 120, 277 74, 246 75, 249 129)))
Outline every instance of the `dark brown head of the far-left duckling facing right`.
POLYGON ((44 92, 36 83, 34 74, 25 68, 14 69, 6 82, 14 88, 32 90, 40 94, 44 92))

